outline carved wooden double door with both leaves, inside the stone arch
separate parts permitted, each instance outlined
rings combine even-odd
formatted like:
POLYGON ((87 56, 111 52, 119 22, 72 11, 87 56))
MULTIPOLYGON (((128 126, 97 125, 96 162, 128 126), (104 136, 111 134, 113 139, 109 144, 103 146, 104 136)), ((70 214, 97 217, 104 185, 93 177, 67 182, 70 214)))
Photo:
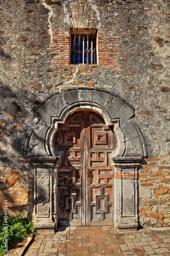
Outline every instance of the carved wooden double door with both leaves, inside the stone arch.
POLYGON ((59 125, 54 146, 58 166, 58 225, 113 224, 112 126, 95 112, 77 111, 59 125))

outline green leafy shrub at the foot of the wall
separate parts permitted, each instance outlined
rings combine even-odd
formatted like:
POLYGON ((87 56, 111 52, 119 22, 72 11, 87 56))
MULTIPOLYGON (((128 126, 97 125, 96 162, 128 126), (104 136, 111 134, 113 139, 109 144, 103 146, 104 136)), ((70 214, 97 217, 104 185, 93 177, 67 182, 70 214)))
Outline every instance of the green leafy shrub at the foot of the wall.
MULTIPOLYGON (((5 221, 0 220, 0 256, 5 251, 5 221)), ((34 233, 33 221, 23 217, 22 214, 16 217, 8 217, 8 245, 26 239, 30 233, 34 233)))

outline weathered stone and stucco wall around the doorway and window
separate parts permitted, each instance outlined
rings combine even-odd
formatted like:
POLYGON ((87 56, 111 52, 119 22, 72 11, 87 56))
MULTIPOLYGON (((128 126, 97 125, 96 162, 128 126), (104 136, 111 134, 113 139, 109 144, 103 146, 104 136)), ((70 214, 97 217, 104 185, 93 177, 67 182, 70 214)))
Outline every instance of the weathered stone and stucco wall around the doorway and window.
POLYGON ((170 226, 168 1, 1 0, 0 13, 2 214, 4 197, 10 215, 33 212, 25 148, 34 111, 61 89, 85 86, 135 109, 148 153, 138 177, 140 224, 170 226), (72 27, 98 29, 99 65, 69 65, 72 27))

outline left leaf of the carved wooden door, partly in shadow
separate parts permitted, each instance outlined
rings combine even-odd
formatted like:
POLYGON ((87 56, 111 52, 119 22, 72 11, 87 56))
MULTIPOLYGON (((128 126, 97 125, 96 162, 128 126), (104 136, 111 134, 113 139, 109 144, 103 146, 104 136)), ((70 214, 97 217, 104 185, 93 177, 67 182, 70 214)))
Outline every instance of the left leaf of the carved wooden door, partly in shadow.
POLYGON ((81 130, 80 115, 77 115, 73 118, 69 117, 64 124, 61 124, 57 134, 56 144, 62 156, 58 167, 59 225, 82 225, 81 130))

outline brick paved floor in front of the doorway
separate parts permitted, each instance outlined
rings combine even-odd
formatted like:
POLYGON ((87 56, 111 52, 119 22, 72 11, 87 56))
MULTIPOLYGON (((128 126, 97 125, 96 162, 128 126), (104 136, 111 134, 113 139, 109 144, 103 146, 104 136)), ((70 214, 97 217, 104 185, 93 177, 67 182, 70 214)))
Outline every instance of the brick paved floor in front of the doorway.
POLYGON ((170 229, 120 233, 113 226, 60 227, 56 234, 39 234, 25 255, 170 256, 170 229))

